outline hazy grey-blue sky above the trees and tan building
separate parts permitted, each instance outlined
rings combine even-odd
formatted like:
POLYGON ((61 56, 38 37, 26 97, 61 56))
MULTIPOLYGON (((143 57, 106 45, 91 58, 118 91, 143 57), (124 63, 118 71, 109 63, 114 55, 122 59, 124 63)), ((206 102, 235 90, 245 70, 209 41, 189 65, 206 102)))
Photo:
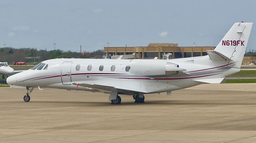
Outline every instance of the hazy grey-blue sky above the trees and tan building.
POLYGON ((109 46, 216 46, 235 22, 254 22, 255 0, 1 0, 0 47, 94 51, 109 46))

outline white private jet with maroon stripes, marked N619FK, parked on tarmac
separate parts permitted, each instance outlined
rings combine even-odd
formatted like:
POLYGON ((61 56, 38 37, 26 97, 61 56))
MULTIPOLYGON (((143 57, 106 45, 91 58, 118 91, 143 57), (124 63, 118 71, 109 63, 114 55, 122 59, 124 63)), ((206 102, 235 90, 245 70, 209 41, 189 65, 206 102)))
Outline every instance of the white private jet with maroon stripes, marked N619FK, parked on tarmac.
POLYGON ((221 83, 240 71, 252 23, 235 23, 208 55, 182 59, 50 59, 7 78, 12 88, 85 90, 110 94, 120 104, 120 94, 144 102, 144 94, 167 92, 204 83, 221 83))

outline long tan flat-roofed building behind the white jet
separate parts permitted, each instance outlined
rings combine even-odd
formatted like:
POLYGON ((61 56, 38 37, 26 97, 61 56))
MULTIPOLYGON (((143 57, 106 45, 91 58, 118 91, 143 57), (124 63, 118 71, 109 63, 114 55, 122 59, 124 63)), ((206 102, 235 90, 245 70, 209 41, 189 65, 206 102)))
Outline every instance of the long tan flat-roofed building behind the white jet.
POLYGON ((104 47, 107 56, 138 54, 137 59, 162 59, 166 53, 172 53, 173 59, 207 55, 206 50, 215 47, 179 47, 178 43, 150 43, 147 47, 104 47))

